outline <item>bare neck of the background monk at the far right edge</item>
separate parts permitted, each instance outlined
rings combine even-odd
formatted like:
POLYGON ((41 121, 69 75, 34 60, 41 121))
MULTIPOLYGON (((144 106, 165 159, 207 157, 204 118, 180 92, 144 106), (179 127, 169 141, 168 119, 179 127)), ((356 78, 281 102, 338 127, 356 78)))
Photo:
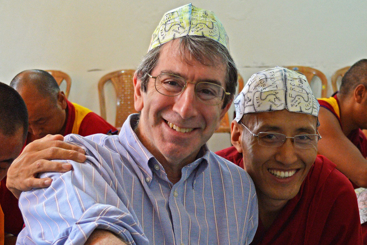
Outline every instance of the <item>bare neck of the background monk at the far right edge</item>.
POLYGON ((340 123, 345 136, 348 136, 352 130, 358 129, 358 126, 353 122, 353 103, 350 98, 337 95, 339 101, 340 123))

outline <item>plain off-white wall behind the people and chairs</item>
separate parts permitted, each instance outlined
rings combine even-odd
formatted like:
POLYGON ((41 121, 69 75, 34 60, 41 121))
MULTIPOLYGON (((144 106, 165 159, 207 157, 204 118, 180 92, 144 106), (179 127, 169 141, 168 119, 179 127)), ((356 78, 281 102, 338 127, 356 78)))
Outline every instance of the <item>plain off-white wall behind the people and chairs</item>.
MULTIPOLYGON (((99 113, 99 78, 136 68, 164 12, 186 3, 0 0, 0 81, 9 84, 25 69, 59 69, 72 78, 69 99, 99 113)), ((338 68, 366 58, 367 1, 192 3, 221 19, 245 82, 275 65, 312 66, 330 80, 338 68)), ((229 134, 213 137, 211 149, 230 145, 229 134)))

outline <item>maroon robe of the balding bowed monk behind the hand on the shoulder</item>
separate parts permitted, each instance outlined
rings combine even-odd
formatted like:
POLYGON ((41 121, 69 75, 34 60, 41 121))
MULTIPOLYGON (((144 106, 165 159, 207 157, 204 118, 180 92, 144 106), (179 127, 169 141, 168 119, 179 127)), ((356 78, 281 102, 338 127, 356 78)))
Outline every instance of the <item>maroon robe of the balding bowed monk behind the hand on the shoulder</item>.
MULTIPOLYGON (((75 120, 75 107, 67 101, 68 104, 68 121, 64 136, 72 133, 75 120)), ((79 127, 80 136, 88 136, 97 133, 112 133, 117 134, 117 129, 106 122, 103 118, 94 112, 88 113, 79 127)), ((24 148, 24 147, 23 147, 24 148)), ((18 199, 6 187, 6 177, 1 180, 0 185, 0 205, 4 212, 4 231, 13 235, 18 235, 23 228, 23 217, 21 210, 18 207, 18 199)))

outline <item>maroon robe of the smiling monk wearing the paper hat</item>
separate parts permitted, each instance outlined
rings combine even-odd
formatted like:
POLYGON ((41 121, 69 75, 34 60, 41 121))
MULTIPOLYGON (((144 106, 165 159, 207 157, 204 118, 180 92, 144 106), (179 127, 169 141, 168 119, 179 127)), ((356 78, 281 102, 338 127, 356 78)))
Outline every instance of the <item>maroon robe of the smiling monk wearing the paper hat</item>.
MULTIPOLYGON (((216 152, 240 165, 235 147, 216 152)), ((243 164, 243 163, 242 163, 243 164)), ((288 201, 265 230, 261 221, 251 245, 363 244, 357 197, 350 181, 335 164, 318 155, 298 194, 288 201)))

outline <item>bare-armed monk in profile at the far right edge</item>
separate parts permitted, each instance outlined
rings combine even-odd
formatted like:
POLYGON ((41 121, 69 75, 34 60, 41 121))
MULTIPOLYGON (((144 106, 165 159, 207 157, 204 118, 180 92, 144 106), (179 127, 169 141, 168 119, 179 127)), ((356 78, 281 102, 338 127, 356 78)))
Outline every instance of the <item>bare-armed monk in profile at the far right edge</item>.
POLYGON ((319 99, 319 153, 337 165, 355 188, 367 187, 367 59, 352 65, 338 93, 319 99))

